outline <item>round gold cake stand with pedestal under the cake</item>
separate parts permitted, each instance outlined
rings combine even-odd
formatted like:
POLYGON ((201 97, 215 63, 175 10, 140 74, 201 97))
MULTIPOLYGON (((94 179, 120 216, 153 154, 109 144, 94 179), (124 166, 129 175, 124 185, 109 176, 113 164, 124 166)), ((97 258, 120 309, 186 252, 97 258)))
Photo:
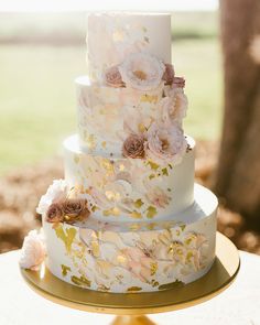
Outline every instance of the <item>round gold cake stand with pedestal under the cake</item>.
POLYGON ((40 271, 21 269, 26 283, 40 295, 72 308, 118 315, 113 325, 152 325, 145 314, 163 313, 205 302, 235 280, 240 267, 238 250, 217 234, 216 260, 210 271, 186 285, 150 293, 106 293, 82 289, 54 277, 45 266, 40 271))

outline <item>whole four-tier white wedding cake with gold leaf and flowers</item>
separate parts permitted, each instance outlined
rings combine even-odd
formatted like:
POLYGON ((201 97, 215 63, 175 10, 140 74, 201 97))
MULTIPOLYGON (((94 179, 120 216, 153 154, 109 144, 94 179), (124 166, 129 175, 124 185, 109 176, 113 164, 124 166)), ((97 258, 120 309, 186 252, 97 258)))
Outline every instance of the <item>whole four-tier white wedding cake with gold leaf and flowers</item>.
POLYGON ((65 282, 123 293, 210 269, 217 199, 194 185, 185 80, 171 56, 170 14, 89 14, 78 134, 64 141, 65 178, 40 201, 43 231, 25 237, 22 268, 44 261, 65 282))

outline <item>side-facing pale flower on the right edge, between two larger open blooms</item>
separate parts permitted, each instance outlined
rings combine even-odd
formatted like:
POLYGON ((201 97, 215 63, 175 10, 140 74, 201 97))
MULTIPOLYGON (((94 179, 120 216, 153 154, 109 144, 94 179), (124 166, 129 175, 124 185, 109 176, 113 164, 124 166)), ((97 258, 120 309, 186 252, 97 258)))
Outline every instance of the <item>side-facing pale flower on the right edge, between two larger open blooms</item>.
POLYGON ((172 90, 171 97, 164 97, 159 104, 162 122, 172 124, 173 122, 182 124, 183 118, 186 116, 187 97, 182 88, 172 90))

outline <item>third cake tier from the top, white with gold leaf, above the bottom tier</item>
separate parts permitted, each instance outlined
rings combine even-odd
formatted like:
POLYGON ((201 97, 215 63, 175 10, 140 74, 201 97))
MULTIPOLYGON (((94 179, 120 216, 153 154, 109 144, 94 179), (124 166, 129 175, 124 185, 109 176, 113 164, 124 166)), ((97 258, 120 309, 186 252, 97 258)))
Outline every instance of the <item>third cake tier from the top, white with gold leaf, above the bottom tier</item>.
POLYGON ((83 151, 77 136, 64 142, 65 180, 86 196, 98 219, 171 219, 194 202, 194 149, 177 165, 109 158, 83 151))

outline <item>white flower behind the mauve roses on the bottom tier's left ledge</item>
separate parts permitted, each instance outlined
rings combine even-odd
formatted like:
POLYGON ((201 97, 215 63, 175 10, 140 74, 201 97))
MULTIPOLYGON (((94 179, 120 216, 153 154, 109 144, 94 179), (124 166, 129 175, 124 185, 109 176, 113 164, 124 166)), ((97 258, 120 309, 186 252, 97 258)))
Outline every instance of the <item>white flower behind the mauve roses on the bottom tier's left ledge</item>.
POLYGON ((66 198, 68 192, 68 184, 64 180, 55 180, 53 184, 47 188, 45 195, 40 199, 36 208, 37 214, 45 215, 48 207, 58 201, 66 198))

